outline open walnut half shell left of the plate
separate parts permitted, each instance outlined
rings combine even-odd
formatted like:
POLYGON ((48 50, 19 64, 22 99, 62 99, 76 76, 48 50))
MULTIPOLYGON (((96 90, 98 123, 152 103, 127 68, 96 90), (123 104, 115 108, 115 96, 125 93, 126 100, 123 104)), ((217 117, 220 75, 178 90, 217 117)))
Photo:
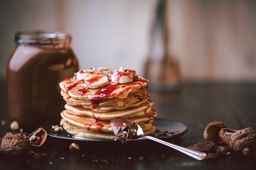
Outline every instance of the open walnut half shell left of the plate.
POLYGON ((29 143, 32 146, 41 146, 45 143, 47 132, 43 128, 39 128, 28 136, 29 143))

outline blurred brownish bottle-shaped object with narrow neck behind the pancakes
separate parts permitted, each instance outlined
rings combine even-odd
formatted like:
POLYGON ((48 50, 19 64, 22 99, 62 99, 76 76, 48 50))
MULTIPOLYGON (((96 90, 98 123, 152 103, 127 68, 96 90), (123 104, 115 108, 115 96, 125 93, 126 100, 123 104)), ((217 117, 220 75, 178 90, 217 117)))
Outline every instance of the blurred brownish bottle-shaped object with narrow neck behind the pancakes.
POLYGON ((150 81, 149 89, 156 91, 175 90, 180 84, 178 63, 169 51, 170 29, 166 9, 166 0, 158 0, 144 66, 144 76, 150 81))

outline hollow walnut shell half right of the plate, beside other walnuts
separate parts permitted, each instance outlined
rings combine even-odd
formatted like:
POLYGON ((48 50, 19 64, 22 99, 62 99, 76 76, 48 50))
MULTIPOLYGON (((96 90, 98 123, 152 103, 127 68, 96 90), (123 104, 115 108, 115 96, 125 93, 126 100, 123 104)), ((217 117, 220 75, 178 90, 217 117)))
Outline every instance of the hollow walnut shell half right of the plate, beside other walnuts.
POLYGON ((222 128, 227 128, 227 126, 222 122, 209 123, 204 130, 204 139, 207 141, 213 141, 215 143, 222 143, 219 136, 219 132, 222 128))

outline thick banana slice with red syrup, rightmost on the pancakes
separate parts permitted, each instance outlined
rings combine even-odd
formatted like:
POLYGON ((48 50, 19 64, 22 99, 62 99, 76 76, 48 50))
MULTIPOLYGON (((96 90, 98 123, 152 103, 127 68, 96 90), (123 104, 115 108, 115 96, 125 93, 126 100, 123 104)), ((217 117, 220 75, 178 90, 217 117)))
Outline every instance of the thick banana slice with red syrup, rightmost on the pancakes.
POLYGON ((111 81, 113 83, 130 83, 133 81, 133 74, 131 72, 115 72, 111 75, 111 81))

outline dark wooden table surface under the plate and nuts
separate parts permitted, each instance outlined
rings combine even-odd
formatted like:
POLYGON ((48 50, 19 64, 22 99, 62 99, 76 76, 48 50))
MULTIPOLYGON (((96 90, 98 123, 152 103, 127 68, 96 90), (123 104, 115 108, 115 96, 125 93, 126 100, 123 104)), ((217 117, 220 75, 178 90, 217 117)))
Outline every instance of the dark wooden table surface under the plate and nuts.
MULTIPOLYGON (((6 85, 0 83, 0 120, 7 119, 6 85)), ((151 92, 158 117, 180 121, 188 131, 170 142, 187 147, 204 141, 208 123, 221 121, 231 129, 256 129, 256 83, 187 83, 176 92, 151 92)), ((0 125, 0 131, 10 131, 0 125)), ((47 138, 38 152, 47 159, 0 157, 0 169, 256 169, 256 154, 242 157, 231 152, 217 161, 197 161, 158 143, 108 145, 88 143, 81 152, 71 154, 70 142, 47 138)))

